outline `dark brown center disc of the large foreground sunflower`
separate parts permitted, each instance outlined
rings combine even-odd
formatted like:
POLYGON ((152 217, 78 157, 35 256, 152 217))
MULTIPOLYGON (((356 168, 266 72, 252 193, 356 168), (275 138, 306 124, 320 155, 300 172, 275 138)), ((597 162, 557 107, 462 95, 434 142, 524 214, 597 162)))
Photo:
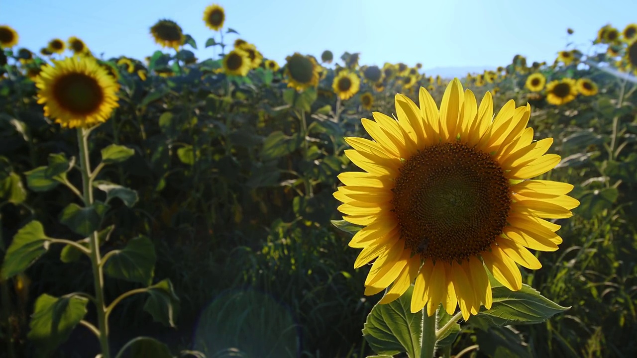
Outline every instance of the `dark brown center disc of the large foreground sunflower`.
POLYGON ((424 148, 404 161, 394 183, 401 238, 422 259, 480 254, 506 225, 511 199, 501 166, 463 143, 424 148))

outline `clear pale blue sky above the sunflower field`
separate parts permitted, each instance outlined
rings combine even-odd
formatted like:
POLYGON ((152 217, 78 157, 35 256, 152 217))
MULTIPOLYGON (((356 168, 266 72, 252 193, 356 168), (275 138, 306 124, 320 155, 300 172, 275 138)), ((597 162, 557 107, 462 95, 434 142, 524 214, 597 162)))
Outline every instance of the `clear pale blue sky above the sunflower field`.
POLYGON ((0 24, 18 32, 19 47, 34 51, 52 38, 78 36, 96 55, 143 59, 159 49, 150 26, 168 18, 207 59, 213 51, 204 43, 215 32, 202 18, 211 3, 224 6, 224 27, 278 62, 329 49, 335 57, 361 52, 361 64, 422 62, 424 69, 501 66, 515 54, 553 61, 568 27, 587 52, 602 25, 621 31, 637 22, 636 0, 0 0, 0 24))

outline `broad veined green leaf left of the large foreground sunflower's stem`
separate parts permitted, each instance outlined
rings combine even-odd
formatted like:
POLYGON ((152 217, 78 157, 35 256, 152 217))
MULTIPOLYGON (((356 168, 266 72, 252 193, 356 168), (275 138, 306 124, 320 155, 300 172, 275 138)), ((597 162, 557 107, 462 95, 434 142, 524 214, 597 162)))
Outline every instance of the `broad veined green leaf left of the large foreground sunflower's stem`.
POLYGON ((412 292, 410 287, 395 301, 376 304, 369 312, 362 334, 376 354, 406 352, 409 357, 420 357, 422 313, 411 311, 412 292))

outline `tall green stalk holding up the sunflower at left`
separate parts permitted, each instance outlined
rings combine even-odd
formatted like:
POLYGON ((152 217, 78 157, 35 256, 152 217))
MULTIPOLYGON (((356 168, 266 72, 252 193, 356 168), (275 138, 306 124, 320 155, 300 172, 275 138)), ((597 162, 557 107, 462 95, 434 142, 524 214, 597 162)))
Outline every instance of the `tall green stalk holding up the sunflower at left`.
MULTIPOLYGON (((89 161, 89 132, 86 129, 78 129, 78 147, 80 148, 80 171, 82 172, 82 193, 84 206, 93 204, 93 189, 91 188, 91 173, 89 161)), ((106 307, 104 306, 104 275, 100 264, 99 239, 97 231, 89 238, 90 264, 93 269, 93 282, 95 285, 95 305, 97 311, 97 329, 99 329, 99 345, 102 350, 102 358, 110 358, 108 347, 108 322, 106 320, 106 307)))

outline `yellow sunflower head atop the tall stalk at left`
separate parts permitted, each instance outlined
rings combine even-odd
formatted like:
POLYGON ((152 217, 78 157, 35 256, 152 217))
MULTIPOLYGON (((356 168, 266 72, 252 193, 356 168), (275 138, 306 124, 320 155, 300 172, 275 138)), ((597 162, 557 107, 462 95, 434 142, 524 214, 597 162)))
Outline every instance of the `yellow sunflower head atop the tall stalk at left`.
POLYGON ((69 57, 46 65, 36 79, 44 115, 62 127, 106 122, 117 107, 119 85, 92 57, 69 57))

